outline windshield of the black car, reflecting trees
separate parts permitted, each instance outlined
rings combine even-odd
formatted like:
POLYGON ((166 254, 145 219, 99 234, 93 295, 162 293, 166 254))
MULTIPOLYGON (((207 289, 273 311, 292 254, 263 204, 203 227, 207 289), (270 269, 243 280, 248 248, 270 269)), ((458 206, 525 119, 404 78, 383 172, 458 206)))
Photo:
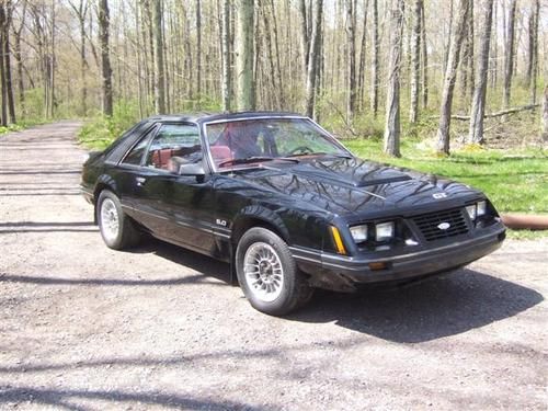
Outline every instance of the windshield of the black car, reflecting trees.
POLYGON ((307 118, 252 118, 206 125, 217 169, 311 156, 351 157, 333 137, 307 118))

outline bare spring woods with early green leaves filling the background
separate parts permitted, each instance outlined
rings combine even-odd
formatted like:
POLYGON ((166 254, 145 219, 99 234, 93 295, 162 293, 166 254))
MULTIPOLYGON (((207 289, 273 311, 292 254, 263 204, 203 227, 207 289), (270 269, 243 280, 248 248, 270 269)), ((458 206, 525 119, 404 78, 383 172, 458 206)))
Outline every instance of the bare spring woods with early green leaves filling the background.
MULTIPOLYGON (((537 110, 545 0, 0 0, 1 125, 278 110, 349 136, 537 110)), ((548 105, 548 103, 546 103, 548 105)), ((548 113, 548 107, 546 109, 548 113)), ((545 113, 546 123, 548 114, 545 113)))

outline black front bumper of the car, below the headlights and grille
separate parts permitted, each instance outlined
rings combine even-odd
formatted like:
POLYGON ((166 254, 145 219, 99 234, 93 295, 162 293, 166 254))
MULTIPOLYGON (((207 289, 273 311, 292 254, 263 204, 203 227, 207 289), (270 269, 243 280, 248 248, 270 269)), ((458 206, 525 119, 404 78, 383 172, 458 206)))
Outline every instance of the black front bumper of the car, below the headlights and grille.
POLYGON ((346 256, 301 248, 292 248, 292 252, 299 267, 310 275, 313 286, 353 292, 364 284, 412 279, 458 269, 501 247, 504 231, 504 226, 496 224, 475 238, 391 256, 346 256), (372 270, 369 264, 378 262, 386 267, 372 270))

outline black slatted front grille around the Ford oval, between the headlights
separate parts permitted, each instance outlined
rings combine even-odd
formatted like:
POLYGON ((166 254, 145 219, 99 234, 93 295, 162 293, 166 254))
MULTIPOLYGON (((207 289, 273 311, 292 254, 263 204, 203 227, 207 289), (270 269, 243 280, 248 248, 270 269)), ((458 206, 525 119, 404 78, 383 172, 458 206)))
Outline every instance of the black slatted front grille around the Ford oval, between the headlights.
POLYGON ((442 212, 421 214, 411 218, 426 241, 439 240, 442 238, 455 237, 468 232, 468 225, 460 208, 442 212), (442 222, 449 224, 445 230, 438 226, 442 222))

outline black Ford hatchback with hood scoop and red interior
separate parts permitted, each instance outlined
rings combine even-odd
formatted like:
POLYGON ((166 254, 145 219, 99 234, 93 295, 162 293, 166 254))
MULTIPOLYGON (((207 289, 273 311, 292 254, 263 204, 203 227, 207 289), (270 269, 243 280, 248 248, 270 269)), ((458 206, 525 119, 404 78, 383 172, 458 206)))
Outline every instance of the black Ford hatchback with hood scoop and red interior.
POLYGON ((481 192, 361 160, 286 113, 145 119, 90 155, 82 191, 110 248, 148 233, 226 261, 271 315, 318 287, 353 292, 460 267, 498 249, 505 230, 481 192))

